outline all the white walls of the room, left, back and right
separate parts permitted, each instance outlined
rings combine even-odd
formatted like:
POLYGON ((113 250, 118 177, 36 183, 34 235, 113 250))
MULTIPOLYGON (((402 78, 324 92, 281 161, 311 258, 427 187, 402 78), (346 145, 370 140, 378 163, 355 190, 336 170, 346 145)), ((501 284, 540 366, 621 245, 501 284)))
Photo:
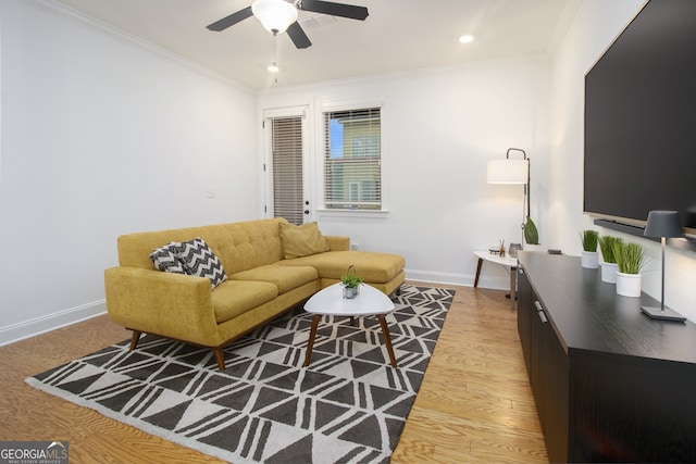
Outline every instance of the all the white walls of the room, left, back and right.
MULTIPOLYGON (((486 162, 510 147, 532 160, 542 242, 580 254, 577 233, 592 226, 583 77, 642 4, 583 0, 552 63, 523 57, 256 96, 51 2, 0 0, 0 344, 104 311, 120 234, 262 216, 263 109, 308 105, 314 147, 323 102, 384 104, 389 214, 318 220, 363 250, 403 254, 409 278, 471 285, 473 250, 520 241, 521 187, 485 183, 486 162)), ((659 297, 659 248, 645 243, 655 259, 644 290, 659 297)), ((667 302, 692 321, 694 258, 667 256, 667 302)), ((506 288, 508 277, 486 265, 480 285, 506 288)))

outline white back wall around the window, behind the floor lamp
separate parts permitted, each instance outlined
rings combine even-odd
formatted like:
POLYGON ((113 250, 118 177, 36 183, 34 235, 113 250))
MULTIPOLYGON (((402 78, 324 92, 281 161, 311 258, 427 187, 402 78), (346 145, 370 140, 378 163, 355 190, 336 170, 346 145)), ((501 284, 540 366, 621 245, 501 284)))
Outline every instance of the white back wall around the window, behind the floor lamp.
MULTIPOLYGON (((547 63, 527 57, 276 90, 259 98, 259 109, 309 105, 312 136, 321 137, 323 103, 382 103, 389 213, 381 218, 320 213, 320 227, 350 236, 362 250, 402 254, 407 278, 472 285, 474 250, 498 239, 521 241, 522 186, 486 184, 487 161, 504 159, 510 147, 524 149, 532 160, 532 211, 544 240, 547 63)), ((320 166, 318 161, 314 172, 320 166)), ((486 265, 480 285, 506 288, 509 278, 501 267, 486 265)))

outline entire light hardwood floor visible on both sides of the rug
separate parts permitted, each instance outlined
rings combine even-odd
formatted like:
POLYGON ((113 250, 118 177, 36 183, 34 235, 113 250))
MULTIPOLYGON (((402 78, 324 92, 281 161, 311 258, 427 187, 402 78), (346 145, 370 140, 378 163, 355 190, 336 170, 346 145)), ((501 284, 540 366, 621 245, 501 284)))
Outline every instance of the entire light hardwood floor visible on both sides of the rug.
MULTIPOLYGON (((505 292, 445 287, 457 296, 391 462, 548 462, 505 292)), ((0 441, 69 440, 71 463, 222 462, 24 383, 127 338, 104 315, 0 347, 0 441)))

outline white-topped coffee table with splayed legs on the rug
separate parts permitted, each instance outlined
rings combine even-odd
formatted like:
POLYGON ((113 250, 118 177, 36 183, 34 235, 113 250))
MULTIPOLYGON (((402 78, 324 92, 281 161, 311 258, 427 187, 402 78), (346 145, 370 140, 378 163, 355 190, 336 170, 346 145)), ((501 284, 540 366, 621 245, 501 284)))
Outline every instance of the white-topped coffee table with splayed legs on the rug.
POLYGON ((314 293, 307 303, 304 311, 314 314, 312 318, 312 328, 309 333, 309 344, 307 346, 307 355, 304 356, 304 366, 309 366, 312 360, 312 349, 314 348, 314 338, 316 337, 316 327, 322 316, 376 316, 382 326, 384 340, 389 353, 391 366, 396 367, 396 358, 391 348, 391 337, 385 315, 394 311, 394 303, 382 291, 369 285, 360 287, 360 294, 353 299, 345 299, 343 296, 343 287, 340 284, 334 284, 314 293))

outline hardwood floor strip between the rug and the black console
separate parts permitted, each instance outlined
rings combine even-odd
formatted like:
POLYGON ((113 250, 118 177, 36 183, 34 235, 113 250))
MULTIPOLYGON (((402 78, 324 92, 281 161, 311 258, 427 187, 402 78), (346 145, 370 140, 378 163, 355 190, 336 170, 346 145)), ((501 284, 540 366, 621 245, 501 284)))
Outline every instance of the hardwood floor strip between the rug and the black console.
POLYGON ((391 462, 548 462, 517 311, 504 291, 446 287, 455 302, 391 462))

